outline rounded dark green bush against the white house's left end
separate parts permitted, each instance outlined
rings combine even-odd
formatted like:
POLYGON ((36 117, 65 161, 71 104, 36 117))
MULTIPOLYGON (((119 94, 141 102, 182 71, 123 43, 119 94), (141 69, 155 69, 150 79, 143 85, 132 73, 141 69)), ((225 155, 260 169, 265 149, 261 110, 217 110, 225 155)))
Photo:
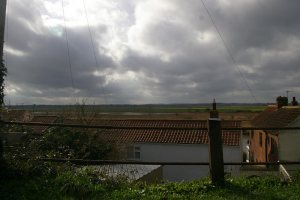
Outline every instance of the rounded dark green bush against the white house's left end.
POLYGON ((101 133, 51 128, 41 138, 39 149, 46 157, 107 159, 113 146, 103 142, 101 133))

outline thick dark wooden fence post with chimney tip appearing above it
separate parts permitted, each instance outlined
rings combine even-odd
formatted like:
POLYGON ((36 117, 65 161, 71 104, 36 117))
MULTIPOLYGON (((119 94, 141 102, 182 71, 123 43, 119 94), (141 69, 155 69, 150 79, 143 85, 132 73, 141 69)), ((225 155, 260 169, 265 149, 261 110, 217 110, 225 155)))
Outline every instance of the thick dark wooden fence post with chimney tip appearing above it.
POLYGON ((209 171, 213 185, 224 185, 223 142, 221 137, 221 119, 216 110, 214 100, 213 110, 208 119, 209 136, 209 171))

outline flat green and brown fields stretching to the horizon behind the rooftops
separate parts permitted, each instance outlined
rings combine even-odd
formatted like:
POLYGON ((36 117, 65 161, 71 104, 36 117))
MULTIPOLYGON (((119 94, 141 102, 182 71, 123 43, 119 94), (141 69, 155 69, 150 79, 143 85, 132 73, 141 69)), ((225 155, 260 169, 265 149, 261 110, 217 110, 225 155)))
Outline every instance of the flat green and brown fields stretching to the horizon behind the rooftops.
MULTIPOLYGON (((264 110, 265 104, 218 104, 220 118, 251 120, 264 110)), ((101 119, 186 119, 206 120, 211 104, 147 104, 147 105, 22 105, 12 109, 26 109, 37 115, 78 114, 95 115, 101 119)))

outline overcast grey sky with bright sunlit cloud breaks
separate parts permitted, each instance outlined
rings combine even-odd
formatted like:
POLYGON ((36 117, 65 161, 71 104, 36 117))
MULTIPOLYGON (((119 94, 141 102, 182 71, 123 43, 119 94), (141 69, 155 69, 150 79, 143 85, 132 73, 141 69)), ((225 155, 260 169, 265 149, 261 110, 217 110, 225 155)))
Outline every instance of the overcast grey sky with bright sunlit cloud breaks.
POLYGON ((300 93, 298 0, 204 0, 229 52, 199 0, 84 2, 87 17, 83 0, 64 0, 70 68, 62 0, 8 0, 6 104, 255 103, 300 93))

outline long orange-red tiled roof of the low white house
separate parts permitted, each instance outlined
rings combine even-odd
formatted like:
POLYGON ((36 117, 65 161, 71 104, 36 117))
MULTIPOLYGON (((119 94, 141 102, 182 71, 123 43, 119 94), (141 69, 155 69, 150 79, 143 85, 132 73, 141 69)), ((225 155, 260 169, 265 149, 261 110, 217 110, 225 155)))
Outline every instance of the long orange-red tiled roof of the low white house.
MULTIPOLYGON (((205 128, 206 121, 196 120, 113 120, 106 125, 130 127, 205 128)), ((222 121, 223 127, 240 127, 240 121, 222 121)), ((121 143, 208 144, 207 130, 108 129, 104 140, 121 143)), ((240 131, 222 131, 224 145, 238 146, 240 131)))

